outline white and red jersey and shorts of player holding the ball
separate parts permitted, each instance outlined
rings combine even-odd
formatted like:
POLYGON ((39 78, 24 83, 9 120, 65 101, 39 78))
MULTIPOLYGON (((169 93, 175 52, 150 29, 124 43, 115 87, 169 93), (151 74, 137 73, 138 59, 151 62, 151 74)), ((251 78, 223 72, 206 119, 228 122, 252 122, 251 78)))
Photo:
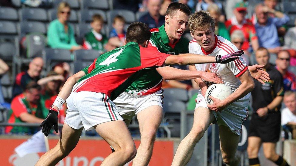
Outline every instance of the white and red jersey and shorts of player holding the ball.
MULTIPOLYGON (((227 39, 215 35, 215 44, 214 47, 209 50, 205 51, 197 41, 193 39, 189 43, 189 53, 193 54, 201 54, 205 56, 216 56, 216 55, 226 55, 233 52, 238 51, 237 47, 234 46, 230 41, 227 39)), ((246 70, 248 70, 247 64, 244 62, 242 57, 238 59, 226 63, 226 64, 218 64, 218 63, 209 63, 209 64, 196 64, 196 69, 199 71, 207 71, 216 73, 217 76, 224 82, 225 85, 229 86, 234 92, 239 86, 240 81, 237 79, 238 76, 241 76, 246 70)), ((209 86, 211 83, 207 83, 209 86)), ((251 93, 248 93, 246 96, 238 99, 237 101, 231 103, 221 112, 213 112, 216 121, 219 125, 226 125, 228 126, 232 132, 237 135, 241 134, 241 126, 244 120, 247 119, 248 116, 248 104, 250 101, 251 93)), ((207 107, 206 100, 203 95, 200 93, 197 96, 197 107, 207 107)))

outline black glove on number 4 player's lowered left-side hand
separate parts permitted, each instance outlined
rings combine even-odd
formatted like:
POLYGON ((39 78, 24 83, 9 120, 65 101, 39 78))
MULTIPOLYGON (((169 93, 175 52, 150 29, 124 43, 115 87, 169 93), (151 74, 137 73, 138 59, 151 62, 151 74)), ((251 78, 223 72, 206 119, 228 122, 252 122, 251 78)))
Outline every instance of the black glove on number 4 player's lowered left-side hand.
POLYGON ((56 132, 59 132, 58 130, 58 111, 54 108, 49 109, 49 113, 47 114, 44 121, 41 123, 40 127, 42 127, 42 132, 45 136, 48 136, 50 129, 52 126, 54 127, 56 132))

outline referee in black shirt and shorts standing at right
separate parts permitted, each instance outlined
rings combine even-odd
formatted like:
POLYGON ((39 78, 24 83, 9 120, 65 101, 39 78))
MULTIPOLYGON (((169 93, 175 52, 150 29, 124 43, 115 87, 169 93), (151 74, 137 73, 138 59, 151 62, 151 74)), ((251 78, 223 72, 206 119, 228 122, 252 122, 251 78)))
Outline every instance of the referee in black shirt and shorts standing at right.
POLYGON ((281 130, 281 102, 284 96, 281 73, 270 63, 266 48, 260 47, 255 54, 259 65, 265 65, 270 77, 269 82, 261 84, 257 80, 252 91, 253 114, 249 128, 248 157, 250 166, 259 166, 258 151, 263 146, 264 155, 277 165, 288 165, 286 160, 276 154, 276 142, 281 130))

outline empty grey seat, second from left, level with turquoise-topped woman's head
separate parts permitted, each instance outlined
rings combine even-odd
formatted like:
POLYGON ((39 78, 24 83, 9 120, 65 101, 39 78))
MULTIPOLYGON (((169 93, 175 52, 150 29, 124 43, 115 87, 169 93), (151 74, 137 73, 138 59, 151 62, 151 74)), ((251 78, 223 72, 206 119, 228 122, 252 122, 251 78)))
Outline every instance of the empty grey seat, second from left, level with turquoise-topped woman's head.
POLYGON ((42 8, 22 8, 22 21, 48 21, 47 13, 42 8))

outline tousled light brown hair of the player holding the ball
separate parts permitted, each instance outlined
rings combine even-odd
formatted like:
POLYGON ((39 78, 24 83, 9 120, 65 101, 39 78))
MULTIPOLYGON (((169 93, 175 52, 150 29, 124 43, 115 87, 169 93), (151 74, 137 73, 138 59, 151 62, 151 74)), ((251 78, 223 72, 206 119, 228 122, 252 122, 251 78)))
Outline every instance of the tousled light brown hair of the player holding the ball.
POLYGON ((208 11, 200 10, 196 11, 189 16, 188 26, 191 34, 194 34, 196 30, 205 30, 212 28, 215 30, 215 20, 208 11))

